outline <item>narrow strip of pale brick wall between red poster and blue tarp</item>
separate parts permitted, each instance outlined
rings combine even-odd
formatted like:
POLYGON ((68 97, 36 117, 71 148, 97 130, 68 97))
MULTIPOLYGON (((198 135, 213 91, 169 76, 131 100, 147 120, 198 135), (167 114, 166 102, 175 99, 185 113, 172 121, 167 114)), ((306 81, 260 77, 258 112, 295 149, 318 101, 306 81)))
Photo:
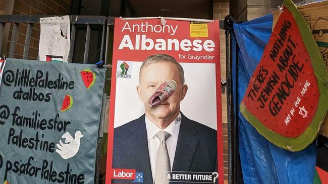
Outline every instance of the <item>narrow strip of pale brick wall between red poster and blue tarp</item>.
MULTIPOLYGON (((214 0, 213 19, 224 20, 229 15, 229 0, 214 0)), ((226 79, 226 37, 225 30, 220 30, 221 77, 226 79)), ((227 124, 227 96, 222 94, 222 122, 223 122, 223 160, 224 179, 228 183, 228 124, 227 124)))

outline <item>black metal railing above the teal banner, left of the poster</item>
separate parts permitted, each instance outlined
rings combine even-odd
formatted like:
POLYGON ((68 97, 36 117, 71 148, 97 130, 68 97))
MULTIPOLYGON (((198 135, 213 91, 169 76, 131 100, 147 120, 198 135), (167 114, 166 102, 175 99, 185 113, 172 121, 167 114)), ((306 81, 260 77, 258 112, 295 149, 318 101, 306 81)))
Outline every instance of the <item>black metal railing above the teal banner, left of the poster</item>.
MULTIPOLYGON (((24 43, 24 52, 23 59, 28 58, 30 43, 31 43, 31 35, 34 24, 39 24, 40 18, 44 17, 52 17, 52 16, 24 16, 24 15, 1 15, 0 16, 0 50, 2 49, 3 40, 4 40, 4 32, 6 24, 13 24, 12 28, 12 37, 10 41, 10 47, 8 51, 8 57, 15 57, 15 49, 18 40, 18 27, 19 24, 27 24, 27 31, 24 43)), ((86 37, 85 37, 85 47, 84 47, 84 56, 83 63, 88 63, 88 55, 89 55, 89 46, 90 46, 90 35, 91 35, 91 26, 92 25, 100 25, 102 26, 101 31, 101 44, 100 44, 100 61, 104 61, 106 64, 107 61, 107 48, 108 48, 108 35, 109 35, 109 26, 114 25, 113 17, 104 17, 104 16, 70 16, 71 22, 71 47, 69 51, 68 62, 72 62, 74 55, 74 46, 76 42, 76 26, 77 25, 86 25, 86 37)), ((22 33, 25 34, 25 33, 22 33)), ((6 51, 5 51, 6 52, 6 51)), ((4 55, 5 53, 0 53, 0 55, 4 55)))

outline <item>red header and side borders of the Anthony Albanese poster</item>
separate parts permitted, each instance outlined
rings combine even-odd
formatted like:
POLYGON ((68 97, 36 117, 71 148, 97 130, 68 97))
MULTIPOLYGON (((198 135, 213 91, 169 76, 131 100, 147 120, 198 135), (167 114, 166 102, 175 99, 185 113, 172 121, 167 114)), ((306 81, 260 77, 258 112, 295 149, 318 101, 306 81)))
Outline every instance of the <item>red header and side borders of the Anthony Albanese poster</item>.
MULTIPOLYGON (((110 116, 108 123, 108 146, 107 146, 107 163, 106 163, 106 183, 111 183, 112 177, 112 157, 113 157, 113 135, 114 135, 114 114, 115 114, 115 95, 116 95, 116 74, 117 74, 117 61, 118 60, 127 60, 127 61, 144 61, 146 57, 152 54, 169 54, 177 59, 178 62, 192 62, 192 63, 215 63, 215 77, 216 77, 216 117, 217 117, 217 168, 218 168, 218 183, 224 182, 224 172, 223 172, 223 135, 222 135, 222 110, 221 110, 221 73, 220 73, 220 30, 218 21, 214 21, 211 23, 207 23, 208 26, 208 37, 206 38, 190 38, 190 22, 189 21, 177 21, 177 20, 166 20, 167 25, 172 25, 173 27, 178 26, 174 35, 171 33, 152 33, 152 32, 130 32, 129 30, 124 30, 126 24, 126 20, 121 20, 120 18, 115 19, 115 30, 114 30, 114 46, 113 46, 113 67, 112 67, 112 85, 111 85, 111 103, 110 103, 110 116), (194 40, 201 40, 201 45, 205 40, 212 40, 215 43, 215 47, 213 47, 213 51, 207 52, 204 48, 201 51, 192 50, 193 46, 191 46, 190 51, 183 51, 181 47, 179 47, 179 51, 173 50, 131 50, 128 47, 124 47, 122 50, 119 50, 119 46, 122 42, 122 39, 125 35, 129 35, 133 46, 135 46, 135 35, 146 35, 146 38, 150 38, 156 43, 156 39, 177 39, 181 42, 184 39, 188 39, 193 43, 194 40), (179 58, 179 54, 181 55, 197 55, 197 56, 214 56, 213 60, 209 59, 200 59, 193 60, 179 58)), ((146 20, 129 20, 130 25, 141 23, 148 25, 161 25, 160 19, 146 19, 146 20)), ((131 27, 132 28, 132 27, 131 27)), ((140 41, 141 42, 141 41, 140 41)), ((141 48, 141 44, 140 44, 141 48)), ((197 70, 197 68, 195 68, 197 70)))

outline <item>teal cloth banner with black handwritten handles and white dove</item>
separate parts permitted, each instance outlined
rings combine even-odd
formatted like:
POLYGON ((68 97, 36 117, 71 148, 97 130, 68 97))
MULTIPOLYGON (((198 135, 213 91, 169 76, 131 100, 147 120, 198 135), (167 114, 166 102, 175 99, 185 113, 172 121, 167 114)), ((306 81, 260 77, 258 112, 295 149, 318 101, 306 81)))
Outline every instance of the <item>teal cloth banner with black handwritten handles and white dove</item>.
POLYGON ((9 59, 0 86, 0 183, 94 183, 104 69, 9 59))

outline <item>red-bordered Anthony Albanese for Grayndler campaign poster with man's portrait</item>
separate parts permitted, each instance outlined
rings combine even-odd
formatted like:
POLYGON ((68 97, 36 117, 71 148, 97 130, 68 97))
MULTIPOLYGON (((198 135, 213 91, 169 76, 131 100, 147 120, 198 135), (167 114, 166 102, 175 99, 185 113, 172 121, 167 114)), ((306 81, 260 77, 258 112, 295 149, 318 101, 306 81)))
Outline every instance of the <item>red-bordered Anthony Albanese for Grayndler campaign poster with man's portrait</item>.
POLYGON ((115 19, 106 183, 223 183, 219 39, 218 21, 115 19))

